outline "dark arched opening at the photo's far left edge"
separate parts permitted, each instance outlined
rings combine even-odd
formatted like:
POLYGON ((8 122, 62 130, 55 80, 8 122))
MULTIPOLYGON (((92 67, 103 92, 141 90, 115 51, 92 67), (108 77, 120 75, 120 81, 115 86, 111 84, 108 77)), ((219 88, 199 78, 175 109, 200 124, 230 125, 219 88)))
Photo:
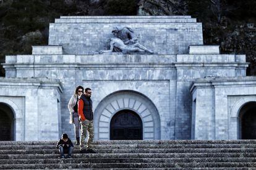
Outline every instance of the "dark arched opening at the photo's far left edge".
POLYGON ((14 113, 5 103, 0 103, 0 140, 14 140, 14 113))

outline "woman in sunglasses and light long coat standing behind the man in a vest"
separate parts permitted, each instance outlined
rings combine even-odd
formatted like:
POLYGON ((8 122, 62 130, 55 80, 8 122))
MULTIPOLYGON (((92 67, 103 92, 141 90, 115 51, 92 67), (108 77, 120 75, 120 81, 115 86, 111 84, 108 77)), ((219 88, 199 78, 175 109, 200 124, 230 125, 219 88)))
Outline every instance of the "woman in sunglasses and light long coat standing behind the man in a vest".
POLYGON ((74 124, 74 127, 75 127, 75 139, 77 139, 77 142, 75 143, 75 145, 80 145, 80 138, 79 138, 80 123, 79 123, 79 116, 77 113, 78 112, 77 101, 79 96, 82 94, 83 94, 83 87, 77 86, 75 88, 74 94, 71 96, 69 100, 69 105, 67 106, 70 112, 69 123, 74 124))

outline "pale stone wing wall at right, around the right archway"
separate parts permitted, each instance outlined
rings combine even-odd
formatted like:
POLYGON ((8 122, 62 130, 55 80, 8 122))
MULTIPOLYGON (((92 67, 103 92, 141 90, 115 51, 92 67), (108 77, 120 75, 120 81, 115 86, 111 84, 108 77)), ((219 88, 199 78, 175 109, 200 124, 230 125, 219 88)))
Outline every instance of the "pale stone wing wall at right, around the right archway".
POLYGON ((193 139, 241 139, 240 109, 256 101, 255 77, 197 79, 193 139))

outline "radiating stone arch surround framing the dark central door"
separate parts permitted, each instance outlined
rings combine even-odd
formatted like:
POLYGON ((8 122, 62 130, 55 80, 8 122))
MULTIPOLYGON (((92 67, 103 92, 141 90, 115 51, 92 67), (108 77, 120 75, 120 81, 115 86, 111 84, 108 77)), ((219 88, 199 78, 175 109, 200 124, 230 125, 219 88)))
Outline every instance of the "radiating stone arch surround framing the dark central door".
POLYGON ((160 115, 155 104, 145 95, 135 91, 116 91, 107 95, 96 106, 94 113, 95 140, 110 140, 111 120, 119 111, 136 113, 142 121, 142 139, 159 140, 160 115))

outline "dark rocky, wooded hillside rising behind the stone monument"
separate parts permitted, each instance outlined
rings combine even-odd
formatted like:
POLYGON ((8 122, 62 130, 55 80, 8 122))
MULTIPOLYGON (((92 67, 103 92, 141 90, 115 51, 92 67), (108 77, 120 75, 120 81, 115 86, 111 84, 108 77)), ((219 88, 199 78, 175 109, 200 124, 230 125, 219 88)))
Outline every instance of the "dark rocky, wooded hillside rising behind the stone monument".
POLYGON ((205 44, 246 54, 247 75, 256 75, 255 6, 255 0, 0 0, 0 62, 48 44, 49 23, 60 15, 192 15, 203 23, 205 44))

